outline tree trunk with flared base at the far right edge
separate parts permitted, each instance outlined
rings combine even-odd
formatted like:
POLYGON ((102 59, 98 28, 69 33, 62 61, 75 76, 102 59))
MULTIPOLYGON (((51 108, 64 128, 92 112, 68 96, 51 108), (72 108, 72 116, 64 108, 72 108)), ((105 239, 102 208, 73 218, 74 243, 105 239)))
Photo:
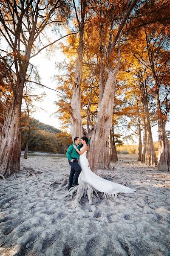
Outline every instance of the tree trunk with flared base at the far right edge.
POLYGON ((156 107, 158 113, 158 134, 159 134, 159 151, 158 151, 158 170, 167 172, 170 166, 170 145, 167 139, 165 120, 161 114, 159 96, 156 94, 156 107))

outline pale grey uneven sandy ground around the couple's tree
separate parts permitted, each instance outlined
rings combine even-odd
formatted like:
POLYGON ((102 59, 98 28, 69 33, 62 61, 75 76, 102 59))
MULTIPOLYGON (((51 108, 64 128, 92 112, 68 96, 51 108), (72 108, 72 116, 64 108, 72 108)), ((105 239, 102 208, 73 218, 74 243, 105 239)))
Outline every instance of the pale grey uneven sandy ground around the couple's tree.
POLYGON ((17 178, 0 180, 0 255, 170 256, 170 173, 132 159, 114 166, 115 182, 136 193, 73 209, 49 187, 70 172, 67 159, 22 158, 17 178), (24 166, 42 174, 26 177, 24 166))

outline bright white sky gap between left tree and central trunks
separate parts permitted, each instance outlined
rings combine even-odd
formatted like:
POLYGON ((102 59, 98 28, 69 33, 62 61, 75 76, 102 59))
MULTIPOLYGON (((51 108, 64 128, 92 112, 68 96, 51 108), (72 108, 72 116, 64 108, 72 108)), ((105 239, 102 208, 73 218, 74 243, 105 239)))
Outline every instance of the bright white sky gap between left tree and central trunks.
MULTIPOLYGON (((64 55, 61 52, 56 51, 53 56, 50 56, 49 59, 45 56, 45 50, 43 50, 39 55, 32 58, 31 63, 36 65, 39 70, 39 75, 41 78, 41 83, 52 89, 57 88, 57 84, 52 81, 53 76, 58 74, 59 71, 55 67, 56 61, 64 60, 64 55)), ((45 98, 42 102, 34 102, 34 105, 37 107, 36 112, 34 113, 34 118, 38 119, 40 122, 43 122, 48 125, 52 125, 55 128, 61 128, 61 123, 59 119, 52 115, 57 111, 57 106, 54 102, 57 100, 57 92, 54 90, 47 89, 45 87, 38 87, 34 94, 46 93, 45 98), (40 109, 43 108, 44 110, 40 109), (52 115, 52 116, 51 116, 52 115)))

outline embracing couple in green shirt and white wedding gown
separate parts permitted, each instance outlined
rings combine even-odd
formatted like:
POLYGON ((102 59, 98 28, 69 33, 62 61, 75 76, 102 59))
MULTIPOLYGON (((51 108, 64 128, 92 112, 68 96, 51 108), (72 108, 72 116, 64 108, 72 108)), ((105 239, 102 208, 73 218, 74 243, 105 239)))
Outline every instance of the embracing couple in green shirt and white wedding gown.
POLYGON ((91 171, 88 159, 86 157, 90 140, 91 137, 89 139, 87 137, 82 137, 80 143, 79 137, 75 137, 74 143, 68 147, 66 155, 68 158, 68 163, 71 166, 68 190, 71 189, 72 186, 77 186, 81 184, 82 181, 85 181, 97 191, 105 192, 109 195, 135 192, 135 189, 130 189, 127 186, 114 183, 110 180, 105 180, 91 171))

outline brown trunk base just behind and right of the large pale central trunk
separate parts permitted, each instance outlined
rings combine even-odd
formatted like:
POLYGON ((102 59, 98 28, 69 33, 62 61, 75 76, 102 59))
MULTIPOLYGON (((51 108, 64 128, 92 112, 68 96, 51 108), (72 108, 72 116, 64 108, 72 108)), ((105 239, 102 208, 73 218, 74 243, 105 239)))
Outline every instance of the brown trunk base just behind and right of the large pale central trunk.
POLYGON ((100 152, 98 169, 112 169, 108 141, 106 141, 105 145, 102 148, 102 151, 100 152))

